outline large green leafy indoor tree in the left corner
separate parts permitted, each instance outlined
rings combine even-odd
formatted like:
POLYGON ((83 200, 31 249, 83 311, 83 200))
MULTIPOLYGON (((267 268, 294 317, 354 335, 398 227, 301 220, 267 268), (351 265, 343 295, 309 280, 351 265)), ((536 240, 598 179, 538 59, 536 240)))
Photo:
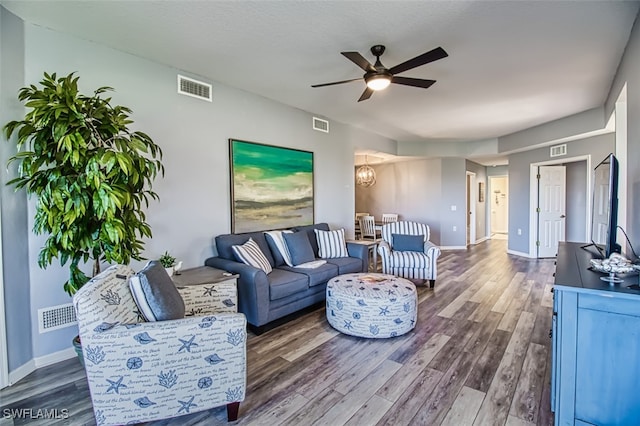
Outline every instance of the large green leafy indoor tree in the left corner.
POLYGON ((131 110, 103 97, 78 92, 74 73, 44 73, 41 87, 20 89, 30 110, 24 120, 4 126, 9 140, 17 132, 18 177, 7 184, 37 196, 33 231, 48 234, 38 265, 54 259, 69 263, 64 290, 72 295, 88 281, 80 262, 141 260, 143 237, 151 237, 143 208, 158 199, 152 182, 164 175, 162 150, 140 131, 129 130, 131 110))

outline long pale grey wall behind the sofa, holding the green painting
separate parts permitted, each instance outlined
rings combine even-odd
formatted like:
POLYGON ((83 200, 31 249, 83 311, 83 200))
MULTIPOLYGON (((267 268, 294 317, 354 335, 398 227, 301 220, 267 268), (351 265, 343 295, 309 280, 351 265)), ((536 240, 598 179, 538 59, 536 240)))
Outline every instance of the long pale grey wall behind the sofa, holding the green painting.
MULTIPOLYGON (((181 96, 176 93, 176 69, 38 26, 26 24, 24 28, 26 74, 20 85, 40 81, 44 71, 58 75, 76 71, 83 92, 112 86, 116 89, 113 103, 130 107, 133 127, 148 133, 162 147, 166 173, 154 183, 161 201, 148 209, 154 235, 146 245, 149 258, 170 250, 184 261, 184 267, 199 266, 215 253, 213 238, 230 232, 229 138, 312 151, 315 219, 334 228, 345 227, 348 232, 353 230, 354 147, 395 146, 393 140, 337 122, 330 123, 329 134, 314 131, 312 114, 215 81, 212 103, 181 96)), ((13 36, 7 34, 6 39, 13 36)), ((4 56, 2 59, 4 63, 4 56)), ((12 92, 7 96, 17 94, 17 90, 12 92)), ((11 197, 15 202, 24 195, 11 197)), ((28 208, 30 227, 33 204, 28 208)), ((29 257, 36 259, 44 237, 23 229, 21 238, 28 241, 29 257)), ((62 290, 65 269, 52 265, 42 270, 26 258, 19 263, 28 271, 21 285, 30 291, 31 300, 10 295, 7 305, 35 318, 39 308, 70 301, 62 290)), ((15 278, 9 277, 8 286, 16 285, 15 278)), ((20 318, 9 318, 9 327, 16 328, 20 318)), ((37 358, 67 349, 75 334, 74 328, 39 334, 33 323, 20 340, 33 336, 32 356, 37 358)))

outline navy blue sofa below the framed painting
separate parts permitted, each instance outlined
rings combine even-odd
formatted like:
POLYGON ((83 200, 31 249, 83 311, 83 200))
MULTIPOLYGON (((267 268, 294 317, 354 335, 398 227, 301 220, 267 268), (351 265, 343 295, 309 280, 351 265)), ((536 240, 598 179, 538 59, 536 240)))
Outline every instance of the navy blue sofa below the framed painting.
MULTIPOLYGON (((329 230, 329 225, 319 223, 292 228, 294 232, 306 232, 318 258, 318 243, 314 229, 329 230)), ((347 243, 349 257, 326 259, 327 263, 315 269, 288 266, 279 253, 274 253, 264 232, 224 234, 216 237, 218 256, 205 261, 205 265, 239 274, 238 312, 256 332, 269 328, 267 324, 325 300, 327 281, 331 278, 368 268, 368 249, 359 244, 347 243), (232 246, 244 244, 252 238, 260 247, 273 271, 263 270, 236 260, 232 246), (267 327, 264 327, 267 326, 267 327)), ((275 250, 277 251, 277 250, 275 250)))

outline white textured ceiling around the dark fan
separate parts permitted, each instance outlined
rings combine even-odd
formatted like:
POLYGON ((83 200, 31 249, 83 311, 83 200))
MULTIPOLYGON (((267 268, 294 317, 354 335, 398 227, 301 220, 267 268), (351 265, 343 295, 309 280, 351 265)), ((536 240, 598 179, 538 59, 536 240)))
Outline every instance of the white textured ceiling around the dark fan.
POLYGON ((4 1, 25 21, 102 43, 329 119, 410 141, 495 138, 601 106, 637 2, 4 1), (392 67, 437 46, 449 57, 357 102, 340 55, 384 44, 392 67))

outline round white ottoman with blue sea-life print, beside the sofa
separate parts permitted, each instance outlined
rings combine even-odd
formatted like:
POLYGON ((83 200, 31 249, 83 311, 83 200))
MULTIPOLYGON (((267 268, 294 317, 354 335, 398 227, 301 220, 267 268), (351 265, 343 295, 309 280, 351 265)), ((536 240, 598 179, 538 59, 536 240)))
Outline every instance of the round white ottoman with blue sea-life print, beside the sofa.
POLYGON ((393 275, 338 275, 327 283, 327 321, 358 337, 400 336, 416 324, 416 287, 393 275))

